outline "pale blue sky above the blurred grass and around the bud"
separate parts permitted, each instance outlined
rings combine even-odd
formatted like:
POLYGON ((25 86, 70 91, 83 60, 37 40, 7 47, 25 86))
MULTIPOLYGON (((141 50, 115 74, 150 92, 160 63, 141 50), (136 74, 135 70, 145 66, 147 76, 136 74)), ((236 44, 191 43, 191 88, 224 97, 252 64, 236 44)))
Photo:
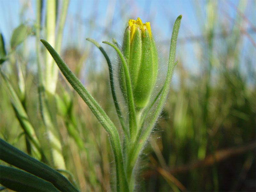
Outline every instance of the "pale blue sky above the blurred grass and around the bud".
MULTIPOLYGON (((227 23, 227 31, 232 30, 234 19, 237 17, 235 7, 240 8, 245 4, 244 16, 255 27, 256 25, 256 1, 216 1, 217 26, 227 23), (239 3, 240 2, 240 3, 239 3)), ((60 1, 61 4, 61 1, 60 1)), ((27 22, 33 24, 36 17, 36 0, 0 0, 0 30, 4 35, 7 45, 10 42, 12 31, 20 23, 27 22), (27 2, 26 11, 21 16, 21 10, 27 2)), ((183 57, 185 67, 191 72, 199 69, 197 65, 198 57, 195 48, 201 46, 199 42, 193 40, 194 37, 202 36, 202 26, 205 26, 207 11, 207 1, 82 1, 71 0, 68 8, 68 16, 63 33, 62 50, 67 46, 76 46, 83 49, 91 48, 91 44, 85 41, 86 37, 91 37, 101 42, 116 38, 122 42, 122 33, 127 26, 128 19, 140 17, 143 22, 150 21, 151 28, 160 46, 161 54, 168 55, 169 40, 172 33, 172 25, 176 17, 182 14, 182 24, 180 28, 179 40, 185 39, 185 43, 178 44, 177 55, 183 57), (201 12, 200 12, 200 11, 201 12), (106 33, 106 30, 108 33, 106 33), (190 39, 192 40, 186 40, 190 39), (163 44, 161 44, 163 42, 163 44)), ((245 30, 248 31, 251 41, 256 41, 254 32, 250 32, 251 24, 244 20, 245 30)), ((218 31, 216 31, 218 33, 218 31)), ((44 34, 42 34, 44 38, 44 34)), ((33 41, 31 39, 31 51, 33 51, 33 41)), ((221 40, 225 41, 225 40, 221 40)), ((221 42, 220 42, 221 44, 221 42)), ((255 50, 252 42, 244 37, 244 55, 255 50)), ((97 53, 95 53, 97 54, 97 53)))

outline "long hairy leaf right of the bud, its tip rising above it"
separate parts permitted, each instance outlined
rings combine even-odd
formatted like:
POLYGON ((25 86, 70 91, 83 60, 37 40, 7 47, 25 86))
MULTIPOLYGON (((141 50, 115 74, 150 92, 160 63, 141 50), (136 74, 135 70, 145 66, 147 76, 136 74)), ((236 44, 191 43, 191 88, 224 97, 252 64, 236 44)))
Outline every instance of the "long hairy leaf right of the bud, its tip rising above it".
MULTIPOLYGON (((151 119, 151 121, 149 122, 147 128, 145 129, 145 132, 142 133, 141 137, 138 138, 137 140, 137 145, 135 145, 134 150, 131 151, 131 153, 129 154, 129 159, 128 159, 128 164, 130 164, 130 169, 133 169, 136 160, 143 148, 143 146, 145 145, 145 143, 147 142, 147 139, 156 123, 156 120, 158 118, 158 116, 160 115, 162 108, 164 107, 164 102, 166 100, 167 94, 169 92, 169 85, 171 82, 171 78, 172 78, 172 74, 173 74, 173 70, 175 67, 174 63, 174 59, 175 59, 175 51, 176 51, 176 42, 177 42, 177 37, 178 37, 178 32, 179 32, 179 28, 180 28, 180 22, 181 22, 181 18, 182 16, 180 15, 173 26, 172 29, 172 39, 171 39, 171 45, 170 45, 170 54, 169 54, 169 62, 168 62, 168 71, 167 71, 167 75, 166 75, 166 79, 164 82, 164 87, 163 87, 163 91, 162 91, 162 95, 159 99, 158 105, 156 107, 155 113, 151 119)), ((130 170, 132 171, 132 170, 130 170)), ((130 174, 128 174, 130 175, 130 174)), ((130 178, 128 178, 129 180, 130 178)))

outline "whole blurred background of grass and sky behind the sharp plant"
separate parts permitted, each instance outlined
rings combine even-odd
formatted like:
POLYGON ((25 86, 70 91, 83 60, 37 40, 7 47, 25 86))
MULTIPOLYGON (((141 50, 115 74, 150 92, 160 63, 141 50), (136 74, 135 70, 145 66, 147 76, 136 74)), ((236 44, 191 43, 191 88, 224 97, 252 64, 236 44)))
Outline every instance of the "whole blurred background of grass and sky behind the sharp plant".
MULTIPOLYGON (((61 13, 62 3, 57 3, 57 14, 61 13)), ((50 159, 51 147, 40 116, 37 91, 35 4, 36 1, 0 1, 0 29, 6 51, 12 51, 1 68, 50 159), (20 24, 32 32, 12 49, 9 43, 12 32, 20 24)), ((244 0, 70 1, 60 55, 116 124, 107 63, 85 38, 101 42, 114 37, 121 44, 130 18, 150 21, 159 47, 160 86, 172 24, 179 14, 183 15, 176 53, 179 64, 161 118, 142 155, 138 190, 256 190, 255 4, 244 0)), ((42 10, 40 38, 45 38, 45 1, 42 10)), ((117 56, 108 47, 104 48, 117 69, 117 56)), ((45 52, 42 46, 40 52, 42 55, 45 52)), ((41 63, 44 63, 42 58, 41 63)), ((115 73, 116 80, 117 77, 115 73)), ((121 97, 120 92, 118 95, 121 97)), ((1 138, 29 153, 26 134, 2 78, 0 98, 1 138)), ((80 190, 109 191, 113 157, 106 132, 61 75, 56 98, 55 131, 66 169, 80 190)), ((120 102, 125 111, 122 99, 120 102)), ((49 164, 54 166, 51 161, 49 164)))

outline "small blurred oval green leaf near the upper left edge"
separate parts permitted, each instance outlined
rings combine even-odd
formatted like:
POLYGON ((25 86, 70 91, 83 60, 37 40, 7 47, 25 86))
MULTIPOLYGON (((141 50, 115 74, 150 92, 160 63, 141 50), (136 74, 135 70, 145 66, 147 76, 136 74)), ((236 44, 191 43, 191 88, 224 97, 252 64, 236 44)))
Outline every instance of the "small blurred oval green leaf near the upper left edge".
POLYGON ((11 38, 11 48, 15 49, 15 47, 21 44, 28 36, 29 28, 26 25, 21 24, 19 27, 15 28, 12 33, 11 38))

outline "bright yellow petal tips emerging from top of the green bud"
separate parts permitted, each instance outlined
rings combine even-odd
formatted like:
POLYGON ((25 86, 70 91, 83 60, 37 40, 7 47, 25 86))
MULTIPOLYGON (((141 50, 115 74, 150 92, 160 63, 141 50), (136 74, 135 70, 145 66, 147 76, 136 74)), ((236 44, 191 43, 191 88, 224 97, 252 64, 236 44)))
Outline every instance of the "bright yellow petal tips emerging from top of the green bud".
POLYGON ((137 20, 130 19, 128 21, 128 25, 131 28, 131 34, 130 34, 130 40, 132 42, 135 29, 139 28, 142 32, 145 32, 145 30, 148 30, 149 36, 151 38, 151 28, 150 28, 150 22, 142 23, 141 19, 138 17, 137 20))

